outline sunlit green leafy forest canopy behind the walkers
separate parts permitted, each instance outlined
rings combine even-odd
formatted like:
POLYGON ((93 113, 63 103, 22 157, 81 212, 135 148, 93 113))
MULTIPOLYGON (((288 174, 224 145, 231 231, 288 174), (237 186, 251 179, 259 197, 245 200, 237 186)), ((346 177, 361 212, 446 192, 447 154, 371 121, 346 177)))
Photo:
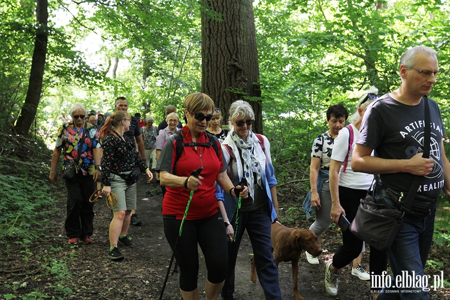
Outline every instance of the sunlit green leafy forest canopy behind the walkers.
MULTIPOLYGON (((105 112, 116 96, 125 96, 130 112, 151 114, 156 122, 167 104, 180 110, 187 94, 201 90, 201 13, 223 21, 208 1, 47 4, 45 27, 36 21, 35 1, 0 4, 0 128, 13 130, 23 111, 36 31, 45 30, 42 92, 36 114, 27 117, 34 120, 30 132, 48 143, 74 102, 105 112)), ((247 21, 255 26, 263 130, 277 137, 286 158, 309 156, 330 104, 343 102, 352 112, 371 85, 380 94, 395 89, 399 55, 418 44, 438 51, 444 72, 430 96, 447 126, 445 1, 255 0, 253 12, 247 21)))

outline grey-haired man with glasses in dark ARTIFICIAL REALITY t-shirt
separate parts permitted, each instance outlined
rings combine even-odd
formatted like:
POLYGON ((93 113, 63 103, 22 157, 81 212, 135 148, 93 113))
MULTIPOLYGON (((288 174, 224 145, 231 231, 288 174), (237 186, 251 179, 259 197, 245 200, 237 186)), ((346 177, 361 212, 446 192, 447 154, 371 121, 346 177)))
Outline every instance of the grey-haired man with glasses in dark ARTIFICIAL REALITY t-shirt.
MULTIPOLYGON (((382 198, 391 208, 396 208, 399 199, 387 194, 386 188, 408 192, 413 178, 422 176, 413 205, 430 203, 429 207, 422 209, 424 217, 405 213, 403 226, 387 252, 393 284, 390 288, 384 287, 377 298, 392 299, 399 295, 401 299, 422 300, 428 298, 425 287, 430 287, 425 286, 424 267, 434 229, 436 204, 433 199, 442 187, 450 190, 450 165, 442 140, 445 132, 439 107, 432 99, 428 99, 430 124, 424 122, 423 96, 431 91, 439 74, 436 51, 424 46, 408 49, 400 57, 399 73, 400 87, 367 107, 351 168, 357 172, 380 174, 382 186, 377 186, 374 198, 382 198), (431 126, 429 158, 422 157, 425 126, 431 126), (373 149, 376 156, 370 156, 373 149), (414 287, 410 286, 410 281, 398 284, 395 281, 398 276, 413 276, 414 287), (418 276, 420 280, 417 280, 418 276)), ((331 267, 329 270, 333 272, 331 267)))

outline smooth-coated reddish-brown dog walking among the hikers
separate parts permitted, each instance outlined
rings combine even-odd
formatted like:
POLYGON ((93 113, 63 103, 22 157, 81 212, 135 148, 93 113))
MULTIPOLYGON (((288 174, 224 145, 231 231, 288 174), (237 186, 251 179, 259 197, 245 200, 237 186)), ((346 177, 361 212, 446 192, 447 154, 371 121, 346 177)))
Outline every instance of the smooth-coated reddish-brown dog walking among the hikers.
MULTIPOLYGON (((297 275, 298 275, 298 259, 303 250, 308 251, 311 255, 318 256, 322 252, 322 248, 317 243, 317 236, 309 229, 288 228, 281 225, 280 222, 272 224, 272 250, 273 260, 276 266, 280 261, 292 261, 292 283, 295 300, 303 300, 298 293, 297 275)), ((254 268, 253 256, 250 258, 251 282, 256 282, 256 270, 254 268)))

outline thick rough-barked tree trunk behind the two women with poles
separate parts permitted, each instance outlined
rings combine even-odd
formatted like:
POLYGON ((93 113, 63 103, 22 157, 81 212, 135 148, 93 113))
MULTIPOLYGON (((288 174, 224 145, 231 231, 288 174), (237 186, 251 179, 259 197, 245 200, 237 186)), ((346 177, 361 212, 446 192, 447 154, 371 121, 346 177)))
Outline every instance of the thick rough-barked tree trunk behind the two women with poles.
POLYGON ((201 90, 220 107, 224 121, 233 101, 248 101, 255 113, 253 131, 262 133, 252 0, 203 0, 202 3, 201 90))

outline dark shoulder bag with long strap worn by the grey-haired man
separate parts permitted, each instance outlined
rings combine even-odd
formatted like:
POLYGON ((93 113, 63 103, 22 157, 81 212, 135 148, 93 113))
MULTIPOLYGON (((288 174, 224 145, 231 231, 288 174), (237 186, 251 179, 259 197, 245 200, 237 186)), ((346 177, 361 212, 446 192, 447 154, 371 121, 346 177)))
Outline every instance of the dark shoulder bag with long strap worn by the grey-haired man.
MULTIPOLYGON (((424 97, 425 104, 425 128, 423 138, 422 157, 429 157, 430 140, 430 116, 428 98, 424 97)), ((403 226, 403 216, 411 210, 412 201, 422 176, 415 176, 411 188, 399 209, 390 208, 382 198, 378 201, 368 192, 364 199, 360 200, 356 215, 351 222, 350 231, 358 238, 380 251, 390 249, 394 238, 403 226)))

